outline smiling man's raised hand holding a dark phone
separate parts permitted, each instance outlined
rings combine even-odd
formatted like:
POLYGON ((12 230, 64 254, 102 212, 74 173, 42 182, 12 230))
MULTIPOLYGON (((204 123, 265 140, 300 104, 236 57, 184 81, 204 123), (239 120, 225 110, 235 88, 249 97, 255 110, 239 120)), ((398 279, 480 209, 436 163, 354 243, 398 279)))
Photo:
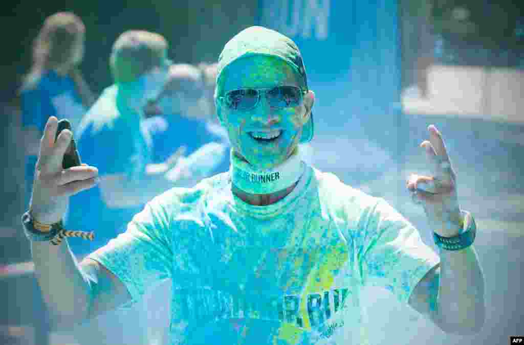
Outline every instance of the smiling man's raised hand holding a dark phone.
POLYGON ((69 196, 92 188, 98 182, 98 169, 82 164, 62 169, 62 160, 71 141, 71 131, 64 129, 56 142, 58 119, 51 116, 40 140, 30 209, 34 219, 43 224, 60 221, 67 210, 69 196))

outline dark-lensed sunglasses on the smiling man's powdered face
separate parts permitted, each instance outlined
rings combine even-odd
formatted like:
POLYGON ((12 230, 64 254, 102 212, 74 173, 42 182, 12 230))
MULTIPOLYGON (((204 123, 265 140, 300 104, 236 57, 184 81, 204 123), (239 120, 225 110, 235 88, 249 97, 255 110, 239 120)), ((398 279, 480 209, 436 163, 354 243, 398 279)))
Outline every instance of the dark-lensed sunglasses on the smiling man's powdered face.
POLYGON ((254 109, 265 95, 272 108, 296 107, 302 103, 307 91, 298 86, 277 86, 272 88, 242 88, 232 90, 219 97, 219 100, 233 110, 246 111, 254 109))

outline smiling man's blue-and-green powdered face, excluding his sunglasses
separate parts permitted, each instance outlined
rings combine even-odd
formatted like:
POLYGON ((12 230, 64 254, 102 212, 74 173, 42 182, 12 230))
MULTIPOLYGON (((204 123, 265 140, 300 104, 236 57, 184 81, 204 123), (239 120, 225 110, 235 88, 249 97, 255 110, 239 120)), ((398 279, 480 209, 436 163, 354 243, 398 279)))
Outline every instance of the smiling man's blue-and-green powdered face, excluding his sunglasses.
MULTIPOLYGON (((286 62, 263 55, 234 61, 223 72, 219 85, 225 96, 232 90, 298 86, 301 80, 286 62)), ((234 152, 259 169, 270 169, 284 162, 297 147, 302 127, 310 117, 313 95, 304 95, 295 107, 274 108, 261 94, 255 108, 242 111, 232 109, 225 102, 217 102, 222 124, 226 127, 234 152)))

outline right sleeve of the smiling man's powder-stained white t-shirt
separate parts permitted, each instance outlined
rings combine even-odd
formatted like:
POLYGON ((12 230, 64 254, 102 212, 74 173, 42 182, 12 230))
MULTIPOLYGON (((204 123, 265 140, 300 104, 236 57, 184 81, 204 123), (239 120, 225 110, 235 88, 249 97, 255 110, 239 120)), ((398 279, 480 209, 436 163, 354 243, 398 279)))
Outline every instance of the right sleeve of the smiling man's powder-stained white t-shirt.
POLYGON ((414 287, 440 258, 408 220, 378 199, 369 213, 362 260, 365 285, 384 287, 400 302, 408 302, 414 287))

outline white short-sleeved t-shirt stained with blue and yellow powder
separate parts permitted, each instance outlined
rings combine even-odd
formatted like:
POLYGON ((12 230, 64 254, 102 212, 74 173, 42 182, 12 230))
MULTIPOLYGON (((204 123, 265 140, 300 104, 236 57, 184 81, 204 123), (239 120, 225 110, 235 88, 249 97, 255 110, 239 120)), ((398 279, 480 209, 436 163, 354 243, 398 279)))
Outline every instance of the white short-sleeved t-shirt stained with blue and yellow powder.
POLYGON ((439 262, 384 199, 308 166, 269 206, 231 192, 228 172, 153 199, 90 258, 133 301, 172 280, 170 344, 366 344, 360 293, 407 302, 439 262))

